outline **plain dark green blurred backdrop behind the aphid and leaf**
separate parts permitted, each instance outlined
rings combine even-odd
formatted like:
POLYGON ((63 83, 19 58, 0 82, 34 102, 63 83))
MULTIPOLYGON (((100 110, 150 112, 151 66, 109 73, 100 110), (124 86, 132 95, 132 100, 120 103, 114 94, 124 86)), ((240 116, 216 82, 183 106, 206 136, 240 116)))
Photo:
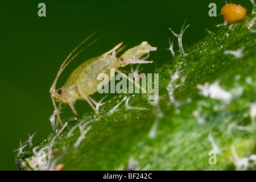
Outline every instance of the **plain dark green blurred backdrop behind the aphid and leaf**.
MULTIPOLYGON (((177 40, 168 28, 179 32, 185 19, 191 24, 183 37, 184 47, 191 46, 223 23, 222 15, 209 17, 208 5, 217 4, 217 13, 225 1, 1 1, 1 127, 0 169, 16 170, 13 152, 35 131, 33 143, 52 131, 49 116, 53 106, 49 88, 68 53, 83 39, 98 31, 104 35, 82 52, 61 75, 58 86, 83 61, 109 51, 119 42, 128 48, 147 41, 158 47, 151 53, 155 64, 143 65, 148 71, 171 59, 168 39, 177 40), (38 4, 46 3, 46 17, 38 16, 38 4)), ((251 10, 249 0, 232 1, 251 10)), ((92 40, 93 40, 92 39, 92 40)), ((95 97, 94 97, 95 98, 95 97)), ((98 100, 99 96, 96 96, 98 100)), ((90 109, 77 102, 79 114, 90 109)), ((63 118, 73 117, 70 109, 63 118)))

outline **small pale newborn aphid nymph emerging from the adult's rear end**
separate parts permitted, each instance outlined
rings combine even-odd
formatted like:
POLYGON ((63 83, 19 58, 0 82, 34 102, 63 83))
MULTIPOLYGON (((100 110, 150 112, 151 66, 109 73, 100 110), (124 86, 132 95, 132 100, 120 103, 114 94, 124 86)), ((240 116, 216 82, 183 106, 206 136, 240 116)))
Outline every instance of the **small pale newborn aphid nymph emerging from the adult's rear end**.
POLYGON ((128 49, 118 59, 120 67, 125 67, 127 64, 142 64, 152 63, 152 61, 146 61, 150 51, 156 51, 156 47, 151 47, 147 42, 142 42, 139 46, 128 49), (147 55, 146 55, 147 54, 147 55), (142 57, 143 55, 146 55, 142 57))

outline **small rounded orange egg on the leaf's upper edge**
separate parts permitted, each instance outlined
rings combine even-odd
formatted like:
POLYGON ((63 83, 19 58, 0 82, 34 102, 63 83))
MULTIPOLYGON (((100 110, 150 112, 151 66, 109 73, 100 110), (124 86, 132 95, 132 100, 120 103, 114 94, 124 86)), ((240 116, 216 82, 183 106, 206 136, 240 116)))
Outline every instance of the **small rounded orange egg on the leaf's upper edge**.
POLYGON ((246 9, 240 5, 228 4, 222 7, 221 13, 227 22, 234 23, 245 18, 246 9))

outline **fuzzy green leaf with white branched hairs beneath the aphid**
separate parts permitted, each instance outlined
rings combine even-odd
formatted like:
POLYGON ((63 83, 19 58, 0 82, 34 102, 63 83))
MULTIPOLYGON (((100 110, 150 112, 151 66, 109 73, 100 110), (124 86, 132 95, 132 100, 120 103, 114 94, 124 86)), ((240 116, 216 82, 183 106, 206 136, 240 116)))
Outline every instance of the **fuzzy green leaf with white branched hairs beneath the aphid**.
POLYGON ((118 94, 100 106, 104 121, 91 111, 68 122, 20 151, 18 168, 255 169, 255 17, 220 28, 156 69, 158 100, 118 94))

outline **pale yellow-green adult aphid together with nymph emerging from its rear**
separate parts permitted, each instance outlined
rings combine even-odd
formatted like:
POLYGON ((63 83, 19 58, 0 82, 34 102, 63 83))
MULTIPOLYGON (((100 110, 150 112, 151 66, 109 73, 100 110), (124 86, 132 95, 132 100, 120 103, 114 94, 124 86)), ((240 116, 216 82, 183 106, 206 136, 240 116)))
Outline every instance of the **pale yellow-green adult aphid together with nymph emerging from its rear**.
MULTIPOLYGON (((88 40, 92 35, 86 38, 81 44, 88 40)), ((94 42, 96 41, 97 40, 95 40, 94 42)), ((63 72, 63 70, 65 69, 65 67, 67 67, 70 61, 73 60, 83 50, 82 49, 81 51, 76 53, 75 56, 69 59, 69 57, 72 56, 72 54, 81 46, 81 44, 79 44, 79 46, 77 46, 65 59, 59 69, 59 72, 57 73, 51 89, 49 90, 49 92, 51 93, 53 106, 55 108, 55 113, 57 115, 56 126, 58 125, 58 123, 60 123, 61 126, 63 126, 63 124, 60 119, 60 111, 56 107, 55 99, 57 102, 60 102, 60 105, 68 104, 76 117, 77 112, 73 105, 75 104, 76 100, 85 100, 93 108, 95 113, 100 117, 100 114, 93 106, 92 102, 90 102, 89 97, 90 94, 97 92, 98 82, 100 82, 97 80, 97 76, 100 73, 110 74, 110 69, 114 69, 115 72, 122 73, 117 68, 125 67, 127 64, 152 63, 152 61, 146 61, 144 60, 145 58, 141 59, 141 57, 145 54, 148 54, 150 51, 156 51, 156 47, 151 47, 150 44, 148 44, 147 42, 142 42, 139 46, 128 49, 125 53, 123 53, 121 57, 119 57, 119 59, 117 59, 116 53, 118 53, 122 49, 120 48, 119 50, 117 50, 122 45, 122 43, 119 43, 117 46, 115 46, 110 51, 104 53, 103 55, 93 57, 92 59, 89 59, 79 65, 79 67, 77 67, 68 77, 68 80, 65 82, 65 84, 60 89, 56 90, 56 82, 61 72, 63 72)), ((90 46, 90 44, 88 46, 90 46)), ((126 78, 130 80, 129 77, 126 76, 126 78)), ((134 82, 134 84, 142 89, 141 86, 139 86, 136 82, 134 82)))

